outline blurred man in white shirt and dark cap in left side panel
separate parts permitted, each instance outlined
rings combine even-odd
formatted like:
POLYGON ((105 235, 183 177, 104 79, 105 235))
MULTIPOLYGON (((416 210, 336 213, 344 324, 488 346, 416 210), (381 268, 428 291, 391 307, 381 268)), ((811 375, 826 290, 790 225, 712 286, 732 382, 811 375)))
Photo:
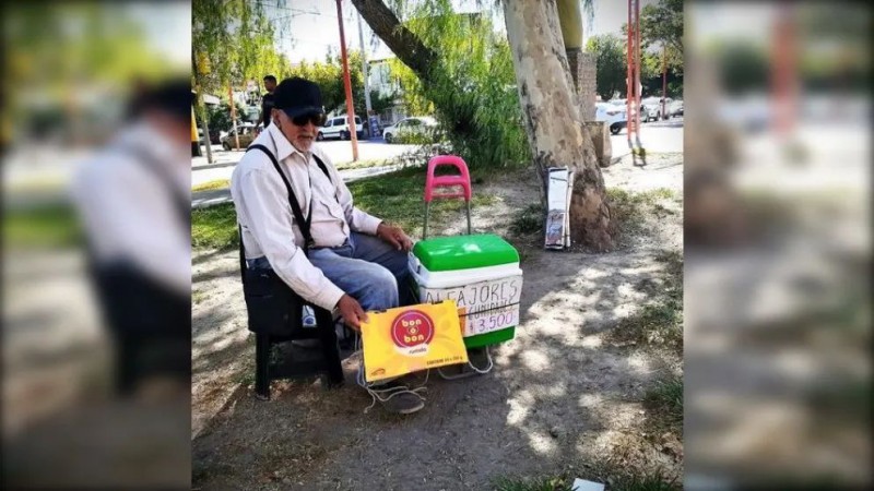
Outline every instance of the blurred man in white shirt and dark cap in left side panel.
POLYGON ((192 103, 185 79, 139 85, 130 124, 74 180, 121 395, 150 375, 191 388, 192 103))

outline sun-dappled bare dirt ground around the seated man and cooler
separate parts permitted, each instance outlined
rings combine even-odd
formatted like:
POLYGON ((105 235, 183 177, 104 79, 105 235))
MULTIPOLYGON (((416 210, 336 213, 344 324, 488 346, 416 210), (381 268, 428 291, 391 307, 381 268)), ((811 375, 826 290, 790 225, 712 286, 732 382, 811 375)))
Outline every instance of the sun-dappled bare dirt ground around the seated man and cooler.
MULTIPOLYGON (((605 459, 681 475, 682 443, 646 433, 641 399, 657 379, 682 373, 682 361, 604 336, 658 295, 668 270, 660 258, 682 253, 683 156, 651 155, 648 164, 636 168, 625 157, 603 172, 607 188, 675 192, 622 249, 545 252, 535 237, 509 237, 524 272, 516 338, 493 348, 489 374, 446 381, 430 373, 425 409, 409 417, 364 412, 370 397, 354 382, 355 358, 341 388, 275 382, 270 402, 256 399, 237 252, 196 255, 194 488, 480 490, 496 478, 572 474, 605 459)), ((474 187, 499 196, 473 211, 475 232, 510 236, 519 211, 539 201, 538 185, 524 170, 474 187)))

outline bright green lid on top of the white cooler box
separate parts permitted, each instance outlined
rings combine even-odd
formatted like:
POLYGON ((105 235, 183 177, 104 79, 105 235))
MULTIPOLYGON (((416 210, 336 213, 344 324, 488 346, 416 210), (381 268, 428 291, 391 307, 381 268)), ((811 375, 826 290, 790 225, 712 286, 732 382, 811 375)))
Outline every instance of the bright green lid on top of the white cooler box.
POLYGON ((413 254, 428 271, 454 271, 519 262, 519 253, 494 233, 420 240, 413 254))

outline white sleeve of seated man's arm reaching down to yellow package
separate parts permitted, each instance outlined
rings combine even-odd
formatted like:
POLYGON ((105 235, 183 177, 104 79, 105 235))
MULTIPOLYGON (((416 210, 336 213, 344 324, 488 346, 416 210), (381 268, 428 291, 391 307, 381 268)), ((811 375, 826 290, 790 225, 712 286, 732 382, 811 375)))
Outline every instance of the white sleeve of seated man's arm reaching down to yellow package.
POLYGON ((343 290, 295 244, 294 216, 288 194, 275 170, 251 169, 239 176, 239 195, 235 196, 238 213, 248 218, 251 232, 273 271, 297 295, 323 309, 333 309, 343 290))

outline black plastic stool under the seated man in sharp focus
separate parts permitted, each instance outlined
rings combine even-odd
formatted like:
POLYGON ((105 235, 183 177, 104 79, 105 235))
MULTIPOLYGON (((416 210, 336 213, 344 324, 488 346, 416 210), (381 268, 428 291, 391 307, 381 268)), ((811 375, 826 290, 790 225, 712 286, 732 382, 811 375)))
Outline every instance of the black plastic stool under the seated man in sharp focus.
MULTIPOLYGON (((297 297, 300 299, 299 297, 297 297)), ((274 380, 307 379, 322 375, 327 387, 338 387, 343 384, 343 368, 341 366, 340 347, 334 331, 334 320, 331 312, 316 306, 316 327, 304 327, 302 321, 303 299, 297 303, 296 311, 291 312, 291 332, 287 335, 270 333, 255 334, 255 392, 258 398, 270 399, 270 383, 274 380), (302 349, 287 349, 287 356, 281 362, 271 362, 271 350, 274 345, 286 344, 292 340, 318 339, 318 350, 310 354, 320 355, 315 359, 305 358, 307 355, 302 349)))

